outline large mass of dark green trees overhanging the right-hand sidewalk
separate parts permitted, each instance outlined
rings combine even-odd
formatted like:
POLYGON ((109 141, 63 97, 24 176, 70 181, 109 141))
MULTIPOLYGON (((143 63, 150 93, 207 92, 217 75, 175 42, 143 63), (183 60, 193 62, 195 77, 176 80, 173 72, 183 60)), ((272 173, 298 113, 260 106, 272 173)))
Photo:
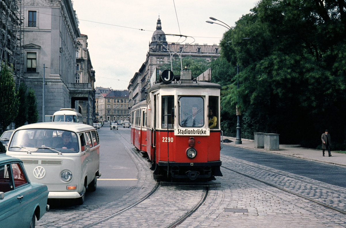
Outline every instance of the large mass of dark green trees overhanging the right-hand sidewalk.
MULTIPOLYGON (((281 142, 320 144, 325 128, 345 140, 345 0, 262 0, 224 34, 221 55, 240 73, 223 87, 229 119, 281 142), (240 87, 236 83, 239 80, 240 87)), ((225 115, 227 116, 227 115, 225 115)))

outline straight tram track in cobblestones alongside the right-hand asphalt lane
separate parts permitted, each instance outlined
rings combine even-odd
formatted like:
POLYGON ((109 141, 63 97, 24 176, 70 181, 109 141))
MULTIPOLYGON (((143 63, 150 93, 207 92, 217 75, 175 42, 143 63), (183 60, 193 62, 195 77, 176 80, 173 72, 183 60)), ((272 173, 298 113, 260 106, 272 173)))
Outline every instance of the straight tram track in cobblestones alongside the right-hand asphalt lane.
MULTIPOLYGON (((307 188, 313 186, 316 189, 318 189, 318 191, 320 191, 320 192, 326 192, 326 191, 331 192, 330 195, 333 195, 333 200, 338 201, 338 199, 340 199, 340 200, 345 201, 345 198, 346 198, 346 192, 345 191, 333 189, 332 187, 328 187, 328 186, 323 186, 323 184, 313 183, 313 182, 316 182, 315 180, 311 180, 309 182, 307 180, 309 178, 305 178, 305 177, 299 178, 299 177, 297 177, 298 175, 294 175, 294 176, 288 175, 288 174, 285 174, 285 172, 274 171, 272 168, 268 168, 265 166, 261 167, 260 165, 251 164, 250 162, 245 162, 245 161, 242 162, 242 160, 240 160, 240 159, 233 159, 233 158, 229 158, 229 157, 228 157, 228 159, 230 159, 233 162, 236 162, 238 164, 242 164, 244 166, 254 167, 257 170, 262 169, 262 170, 264 170, 264 172, 275 174, 277 176, 280 176, 280 178, 284 177, 286 179, 289 179, 289 178, 293 179, 297 183, 299 182, 299 183, 302 183, 302 185, 308 185, 307 188), (338 196, 335 197, 335 195, 338 195, 338 196)), ((299 192, 297 190, 294 190, 294 186, 292 186, 291 189, 289 189, 289 187, 280 186, 280 183, 275 183, 275 178, 273 178, 272 176, 271 176, 270 181, 266 181, 263 178, 258 177, 258 173, 259 173, 258 171, 251 173, 252 171, 244 172, 241 170, 236 170, 235 168, 226 167, 225 165, 223 165, 221 167, 228 170, 228 171, 237 173, 237 174, 242 175, 242 176, 246 176, 248 178, 251 178, 255 181, 261 182, 261 183, 266 184, 268 186, 274 187, 274 188, 279 189, 281 191, 296 195, 299 198, 303 198, 303 199, 308 200, 310 202, 321 205, 325 208, 331 209, 333 211, 337 211, 337 212, 342 213, 342 214, 346 214, 346 210, 344 208, 338 208, 336 205, 332 205, 333 203, 329 202, 330 200, 328 200, 328 199, 316 199, 316 197, 314 199, 313 195, 304 194, 303 192, 299 192), (323 202, 323 201, 325 201, 325 202, 323 202)), ((248 169, 244 169, 244 170, 248 170, 248 169)), ((327 194, 327 195, 329 195, 329 194, 327 194)))

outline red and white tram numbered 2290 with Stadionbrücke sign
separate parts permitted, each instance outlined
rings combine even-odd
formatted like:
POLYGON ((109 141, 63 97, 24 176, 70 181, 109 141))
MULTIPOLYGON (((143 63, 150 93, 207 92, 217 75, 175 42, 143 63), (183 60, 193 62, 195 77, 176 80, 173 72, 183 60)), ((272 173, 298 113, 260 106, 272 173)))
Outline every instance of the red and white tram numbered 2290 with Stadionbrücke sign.
POLYGON ((184 73, 183 80, 152 85, 147 99, 131 109, 131 143, 147 154, 157 181, 222 176, 221 86, 184 73))

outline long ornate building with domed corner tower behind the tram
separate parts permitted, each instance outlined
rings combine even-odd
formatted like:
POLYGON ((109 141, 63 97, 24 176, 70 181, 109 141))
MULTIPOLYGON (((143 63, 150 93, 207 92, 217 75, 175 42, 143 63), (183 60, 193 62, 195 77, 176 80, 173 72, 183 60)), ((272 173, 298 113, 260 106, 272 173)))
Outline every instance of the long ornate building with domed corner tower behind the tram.
MULTIPOLYGON (((162 64, 171 61, 171 54, 179 53, 181 58, 203 58, 207 61, 216 59, 220 56, 220 46, 213 45, 199 45, 194 44, 180 44, 180 43, 168 43, 166 35, 162 31, 161 19, 157 19, 156 30, 153 33, 152 41, 149 44, 149 51, 146 55, 146 60, 136 72, 133 78, 130 80, 129 91, 130 106, 133 106, 146 97, 146 90, 151 87, 150 78, 153 75, 155 69, 159 69, 162 64)), ((175 54, 175 57, 179 59, 179 56, 175 54)), ((172 61, 173 62, 173 61, 172 61)), ((180 59, 179 59, 180 65, 180 59)))

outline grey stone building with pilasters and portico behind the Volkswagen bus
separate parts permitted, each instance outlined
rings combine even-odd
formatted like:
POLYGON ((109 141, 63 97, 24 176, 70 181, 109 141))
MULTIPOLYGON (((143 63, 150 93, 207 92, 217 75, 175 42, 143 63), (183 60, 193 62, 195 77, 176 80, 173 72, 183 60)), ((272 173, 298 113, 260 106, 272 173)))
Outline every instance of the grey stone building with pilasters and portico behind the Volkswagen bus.
POLYGON ((83 49, 85 56, 87 37, 81 37, 71 0, 25 0, 23 11, 24 80, 35 90, 39 121, 60 108, 75 108, 84 113, 85 123, 92 124, 95 73, 87 52, 79 63, 87 62, 88 72, 78 81, 76 51, 83 49))

